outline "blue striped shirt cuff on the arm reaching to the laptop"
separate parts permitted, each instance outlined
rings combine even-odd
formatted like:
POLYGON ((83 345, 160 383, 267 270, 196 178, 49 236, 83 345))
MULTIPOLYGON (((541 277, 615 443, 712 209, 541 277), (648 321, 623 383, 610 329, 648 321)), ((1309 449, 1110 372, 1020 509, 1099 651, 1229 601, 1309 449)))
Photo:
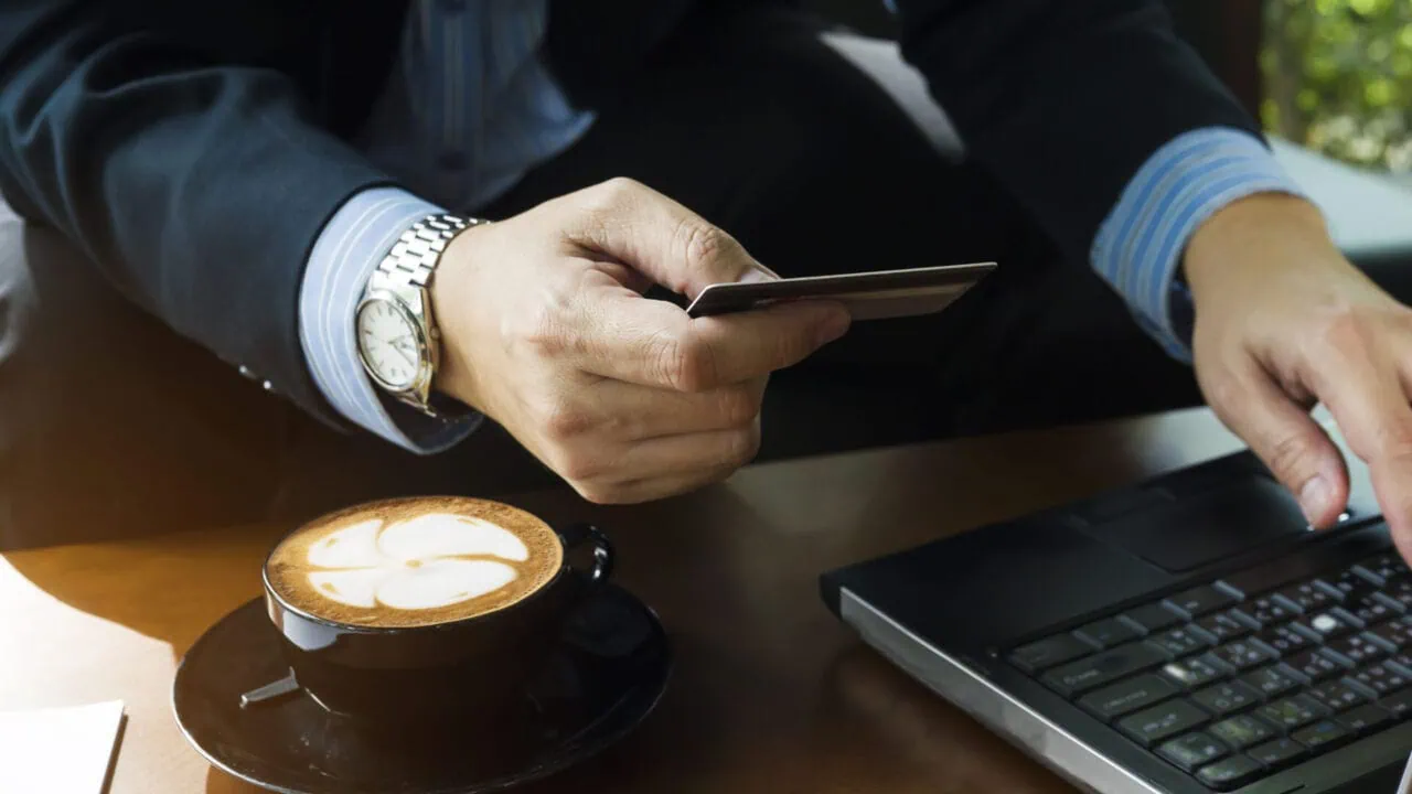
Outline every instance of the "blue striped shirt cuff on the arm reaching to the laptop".
POLYGON ((1124 188, 1093 242, 1093 268, 1128 302, 1138 325, 1190 360, 1173 326, 1173 281, 1196 229, 1231 202, 1262 192, 1303 195, 1258 137, 1236 129, 1183 133, 1124 188))

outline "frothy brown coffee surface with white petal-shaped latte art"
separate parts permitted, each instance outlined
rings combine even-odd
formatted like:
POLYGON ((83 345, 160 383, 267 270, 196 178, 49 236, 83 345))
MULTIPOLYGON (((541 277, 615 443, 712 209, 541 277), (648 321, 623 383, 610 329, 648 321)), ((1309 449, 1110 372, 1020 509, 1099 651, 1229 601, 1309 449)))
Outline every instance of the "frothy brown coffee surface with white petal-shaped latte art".
POLYGON ((562 565, 559 535, 530 513, 426 497, 363 504, 299 527, 270 554, 265 579, 313 617, 397 629, 505 609, 562 565))

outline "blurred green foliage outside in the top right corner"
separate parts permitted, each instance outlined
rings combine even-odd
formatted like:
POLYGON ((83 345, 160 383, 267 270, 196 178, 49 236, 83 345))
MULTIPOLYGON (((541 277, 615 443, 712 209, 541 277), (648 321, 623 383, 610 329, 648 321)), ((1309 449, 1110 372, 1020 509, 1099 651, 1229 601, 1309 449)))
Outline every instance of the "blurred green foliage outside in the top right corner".
POLYGON ((1412 0, 1265 0, 1264 122, 1332 157, 1412 171, 1412 0))

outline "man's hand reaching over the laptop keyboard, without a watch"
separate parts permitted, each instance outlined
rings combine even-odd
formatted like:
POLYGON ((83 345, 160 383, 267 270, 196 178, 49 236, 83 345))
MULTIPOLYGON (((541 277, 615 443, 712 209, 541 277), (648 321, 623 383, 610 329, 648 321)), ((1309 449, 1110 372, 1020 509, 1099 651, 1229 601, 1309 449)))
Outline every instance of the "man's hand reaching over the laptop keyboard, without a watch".
POLYGON ((1207 220, 1186 275, 1196 376, 1217 415, 1326 527, 1347 503, 1348 473, 1309 415, 1323 403, 1412 559, 1412 311, 1339 253, 1312 205, 1285 195, 1207 220))

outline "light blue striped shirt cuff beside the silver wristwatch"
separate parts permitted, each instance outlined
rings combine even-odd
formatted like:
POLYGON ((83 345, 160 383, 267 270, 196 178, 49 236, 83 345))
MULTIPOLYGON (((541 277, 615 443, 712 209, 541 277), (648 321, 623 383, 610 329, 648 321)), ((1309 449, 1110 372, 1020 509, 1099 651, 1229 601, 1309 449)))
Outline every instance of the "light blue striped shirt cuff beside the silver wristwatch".
POLYGON ((432 420, 384 404, 363 372, 353 325, 363 287, 397 237, 439 212, 445 211, 398 188, 354 195, 315 240, 299 288, 299 343, 319 391, 349 421, 421 455, 462 441, 483 417, 432 420))

